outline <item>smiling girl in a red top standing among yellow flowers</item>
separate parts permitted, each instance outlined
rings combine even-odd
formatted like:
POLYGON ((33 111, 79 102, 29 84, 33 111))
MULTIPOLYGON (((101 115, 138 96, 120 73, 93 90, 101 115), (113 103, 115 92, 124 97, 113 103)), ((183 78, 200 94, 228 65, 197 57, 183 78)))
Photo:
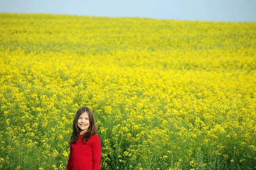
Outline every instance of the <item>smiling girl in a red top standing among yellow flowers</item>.
POLYGON ((84 106, 79 108, 73 120, 67 170, 100 169, 101 141, 96 132, 93 112, 84 106))

